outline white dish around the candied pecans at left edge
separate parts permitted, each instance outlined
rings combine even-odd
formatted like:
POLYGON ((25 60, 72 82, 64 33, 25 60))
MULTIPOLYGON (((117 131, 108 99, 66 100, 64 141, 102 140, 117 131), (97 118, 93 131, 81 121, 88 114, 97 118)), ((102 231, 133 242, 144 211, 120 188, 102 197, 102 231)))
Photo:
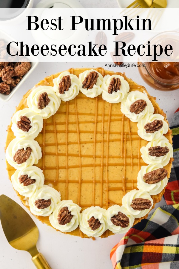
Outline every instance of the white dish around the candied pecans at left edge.
MULTIPOLYGON (((0 31, 0 38, 4 39, 7 42, 11 42, 11 41, 16 41, 14 40, 11 36, 9 36, 7 33, 5 33, 4 31, 0 31)), ((28 58, 29 62, 31 63, 31 68, 30 70, 23 76, 23 78, 20 80, 20 82, 16 85, 16 87, 14 87, 10 94, 6 95, 6 94, 1 94, 0 93, 0 100, 7 102, 10 100, 11 97, 13 97, 13 95, 15 94, 15 92, 21 87, 21 85, 24 83, 24 81, 27 79, 27 77, 30 76, 30 74, 34 71, 34 69, 37 67, 38 62, 32 62, 30 61, 30 57, 28 58)))

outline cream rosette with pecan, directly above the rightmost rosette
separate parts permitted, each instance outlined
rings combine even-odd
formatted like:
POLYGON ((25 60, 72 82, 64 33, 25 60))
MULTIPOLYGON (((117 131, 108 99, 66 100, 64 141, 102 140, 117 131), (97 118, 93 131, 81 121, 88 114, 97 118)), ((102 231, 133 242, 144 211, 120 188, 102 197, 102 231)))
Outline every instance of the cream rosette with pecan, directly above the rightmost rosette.
POLYGON ((137 124, 138 135, 147 140, 156 140, 168 132, 169 126, 161 114, 149 114, 137 124))

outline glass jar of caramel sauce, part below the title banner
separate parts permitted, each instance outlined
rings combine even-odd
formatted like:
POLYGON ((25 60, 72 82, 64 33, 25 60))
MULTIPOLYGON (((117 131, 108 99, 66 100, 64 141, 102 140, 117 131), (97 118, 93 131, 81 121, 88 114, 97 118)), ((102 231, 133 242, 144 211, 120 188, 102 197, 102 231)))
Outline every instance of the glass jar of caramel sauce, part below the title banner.
POLYGON ((179 62, 138 62, 143 80, 158 90, 175 90, 179 88, 179 62))

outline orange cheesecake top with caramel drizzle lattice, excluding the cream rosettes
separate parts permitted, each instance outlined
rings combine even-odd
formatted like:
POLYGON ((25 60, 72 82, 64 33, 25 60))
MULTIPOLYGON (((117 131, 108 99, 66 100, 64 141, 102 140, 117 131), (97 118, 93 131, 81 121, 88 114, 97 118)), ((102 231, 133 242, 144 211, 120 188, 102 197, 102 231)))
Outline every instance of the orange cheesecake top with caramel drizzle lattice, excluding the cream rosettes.
MULTIPOLYGON (((73 69, 77 76, 87 69, 73 69)), ((97 68, 103 76, 114 74, 97 68)), ((126 78, 130 91, 143 91, 145 88, 126 78)), ((53 86, 55 74, 38 83, 53 86)), ((27 107, 28 92, 17 110, 27 107)), ((149 96, 155 113, 163 114, 155 99, 149 96)), ((126 192, 137 189, 137 174, 143 162, 140 148, 146 140, 137 134, 137 123, 131 122, 120 110, 121 104, 105 102, 101 95, 86 97, 81 92, 69 102, 61 101, 55 115, 44 119, 42 132, 35 139, 41 146, 42 158, 37 166, 44 172, 44 184, 61 192, 61 200, 72 199, 84 210, 90 206, 110 207, 122 203, 126 192)), ((164 115, 165 116, 165 115, 164 115)), ((165 135, 171 143, 171 133, 165 135)), ((11 125, 8 128, 7 146, 14 138, 11 125)), ((165 167, 168 172, 171 163, 165 167)), ((7 163, 9 176, 15 169, 7 163)), ((164 192, 164 190, 163 190, 164 192)), ((154 204, 163 195, 152 196, 154 204)), ((19 195, 23 200, 23 196, 19 195)), ((24 201, 23 201, 24 202, 24 201)), ((25 203, 25 202, 24 202, 25 203)), ((48 217, 38 219, 50 225, 48 217)), ((135 220, 137 223, 139 219, 135 220)), ((79 227, 70 232, 76 236, 87 237, 79 227)), ((102 237, 111 235, 106 231, 102 237)))

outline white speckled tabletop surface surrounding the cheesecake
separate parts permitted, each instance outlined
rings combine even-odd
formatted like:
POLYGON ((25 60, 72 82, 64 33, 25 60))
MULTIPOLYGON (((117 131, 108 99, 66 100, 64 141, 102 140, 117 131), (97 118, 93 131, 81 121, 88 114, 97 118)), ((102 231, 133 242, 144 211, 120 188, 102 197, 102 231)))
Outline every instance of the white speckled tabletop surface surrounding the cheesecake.
MULTIPOLYGON (((15 106, 18 105, 23 95, 28 89, 32 88, 38 81, 47 75, 54 74, 59 71, 66 70, 70 67, 104 67, 104 63, 39 63, 36 70, 24 82, 22 87, 16 92, 13 98, 7 102, 0 102, 1 118, 0 118, 0 167, 1 167, 1 188, 0 195, 5 194, 21 204, 15 191, 8 179, 4 146, 6 141, 6 129, 10 123, 11 116, 15 111, 15 106)), ((157 102, 160 107, 166 112, 170 121, 174 111, 178 108, 179 90, 176 91, 158 91, 154 90, 141 79, 137 68, 108 68, 113 71, 126 72, 126 75, 136 81, 138 84, 144 85, 149 93, 157 97, 157 102)), ((160 204, 164 204, 161 201, 160 204)), ((156 207, 158 207, 157 204, 156 207)), ((32 216, 32 215, 31 215, 32 216)), ((105 239, 81 239, 78 237, 65 235, 55 231, 33 217, 39 229, 39 239, 37 248, 44 254, 50 266, 53 269, 91 269, 103 268, 112 269, 109 258, 110 250, 119 242, 122 235, 114 235, 105 239)), ((31 262, 31 256, 25 251, 16 250, 11 247, 2 231, 0 225, 0 268, 2 269, 33 269, 35 266, 31 262)))

